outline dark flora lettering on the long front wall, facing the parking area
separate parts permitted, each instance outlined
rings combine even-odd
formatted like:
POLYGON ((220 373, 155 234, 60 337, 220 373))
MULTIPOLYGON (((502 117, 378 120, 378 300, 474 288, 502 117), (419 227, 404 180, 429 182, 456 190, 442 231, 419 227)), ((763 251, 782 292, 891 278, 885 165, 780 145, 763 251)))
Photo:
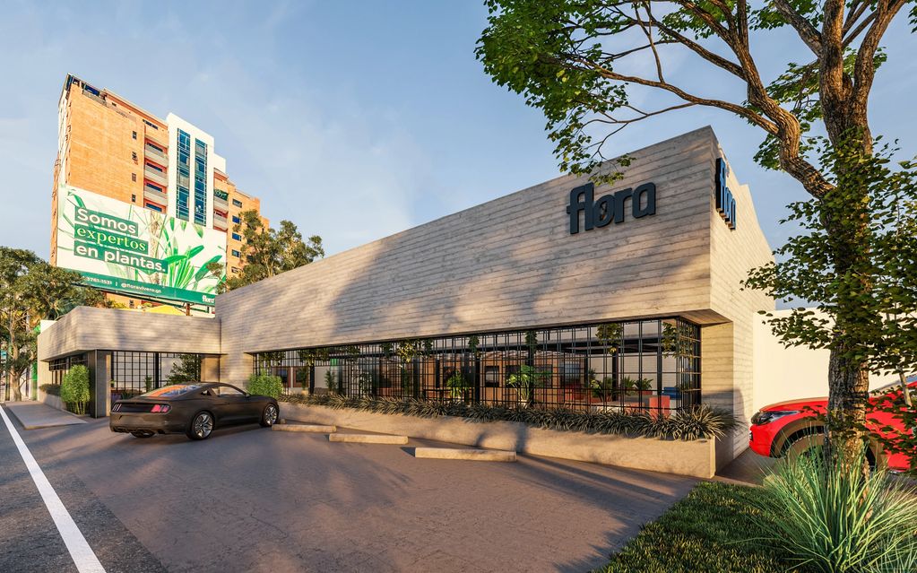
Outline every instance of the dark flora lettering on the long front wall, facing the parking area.
POLYGON ((635 219, 656 215, 656 185, 644 183, 636 189, 624 189, 613 194, 602 195, 593 201, 595 188, 586 183, 570 191, 567 213, 570 215, 570 235, 580 232, 580 213, 583 214, 583 230, 607 226, 614 222, 624 223, 624 211, 630 200, 631 215, 635 219))

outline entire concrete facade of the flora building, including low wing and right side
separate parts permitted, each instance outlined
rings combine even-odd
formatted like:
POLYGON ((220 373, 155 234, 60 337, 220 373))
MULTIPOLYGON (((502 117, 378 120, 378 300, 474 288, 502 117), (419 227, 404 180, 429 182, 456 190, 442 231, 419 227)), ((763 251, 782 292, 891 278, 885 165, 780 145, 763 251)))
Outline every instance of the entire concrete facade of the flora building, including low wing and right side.
MULTIPOLYGON (((729 172, 730 228, 714 208, 724 154, 709 127, 628 157, 622 178, 594 197, 651 182, 654 215, 627 208, 622 222, 591 230, 580 215, 571 234, 570 192, 588 178, 559 177, 220 294, 204 322, 79 309, 41 335, 39 353, 219 354, 220 380, 243 384, 258 352, 681 317, 700 326, 702 401, 746 424, 756 313, 774 308, 741 288, 773 260, 751 193, 729 172)), ((716 463, 746 445, 736 433, 716 463)))

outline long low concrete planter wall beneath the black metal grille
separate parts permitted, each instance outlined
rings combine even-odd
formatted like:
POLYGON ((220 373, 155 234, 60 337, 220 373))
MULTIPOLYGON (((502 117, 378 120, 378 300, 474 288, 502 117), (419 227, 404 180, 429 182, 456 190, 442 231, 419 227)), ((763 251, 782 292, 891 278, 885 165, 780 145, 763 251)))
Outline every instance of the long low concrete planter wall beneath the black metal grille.
POLYGON ((471 422, 441 416, 418 418, 353 409, 304 406, 281 402, 281 417, 296 422, 328 424, 383 434, 408 435, 465 446, 513 450, 534 456, 560 457, 606 466, 646 469, 712 478, 716 473, 715 440, 692 442, 622 435, 542 430, 517 422, 471 422))

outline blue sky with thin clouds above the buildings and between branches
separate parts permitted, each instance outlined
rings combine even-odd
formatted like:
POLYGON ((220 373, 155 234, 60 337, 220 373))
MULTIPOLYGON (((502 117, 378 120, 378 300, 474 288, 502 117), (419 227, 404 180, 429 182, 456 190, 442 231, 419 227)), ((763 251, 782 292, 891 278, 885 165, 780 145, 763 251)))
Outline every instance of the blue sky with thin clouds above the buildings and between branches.
MULTIPOLYGON (((57 101, 68 72, 211 133, 230 177, 261 197, 264 214, 321 235, 329 254, 555 177, 543 116, 493 84, 474 58, 485 18, 471 0, 0 0, 0 245, 48 256, 57 101)), ((903 19, 885 43, 871 120, 912 156, 917 46, 903 19)), ((779 62, 805 57, 786 33, 754 49, 768 78, 779 62)), ((743 99, 708 66, 666 59, 669 79, 743 99)), ((653 94, 635 101, 663 103, 653 94)), ((752 161, 755 128, 693 108, 625 129, 610 151, 705 125, 751 185, 776 247, 789 233, 777 224, 783 206, 803 194, 752 161)))

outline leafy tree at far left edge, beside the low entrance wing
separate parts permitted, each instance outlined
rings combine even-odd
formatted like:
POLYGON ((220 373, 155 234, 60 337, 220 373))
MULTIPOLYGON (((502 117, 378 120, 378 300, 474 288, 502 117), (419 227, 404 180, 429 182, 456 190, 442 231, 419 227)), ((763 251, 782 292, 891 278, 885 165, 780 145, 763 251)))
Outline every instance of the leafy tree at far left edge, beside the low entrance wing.
POLYGON ((101 292, 80 286, 80 280, 79 273, 52 267, 30 250, 0 247, 0 347, 6 355, 0 371, 14 400, 22 398, 18 381, 38 358, 35 328, 41 320, 104 303, 101 292))

